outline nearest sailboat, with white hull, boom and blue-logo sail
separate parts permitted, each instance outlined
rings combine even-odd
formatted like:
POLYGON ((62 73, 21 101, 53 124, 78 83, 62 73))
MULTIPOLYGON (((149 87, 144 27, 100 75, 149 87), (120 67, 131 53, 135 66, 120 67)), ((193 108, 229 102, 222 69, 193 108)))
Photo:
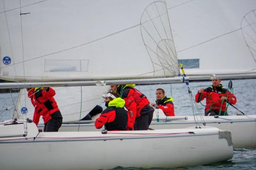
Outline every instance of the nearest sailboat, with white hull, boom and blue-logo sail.
MULTIPOLYGON (((164 1, 0 3, 0 78, 16 81, 1 83, 0 88, 58 87, 56 101, 63 121, 79 120, 98 104, 109 84, 188 81, 179 75, 164 1), (137 69, 129 69, 131 66, 137 69), (71 109, 66 110, 69 106, 71 109)), ((26 95, 26 90, 21 90, 15 106, 15 112, 21 113, 19 119, 0 124, 1 169, 183 167, 233 156, 230 131, 212 127, 107 134, 41 132, 27 119, 32 110, 26 95), (13 152, 15 156, 10 154, 13 152), (20 154, 25 156, 20 158, 20 154), (64 159, 64 163, 56 164, 64 159), (95 159, 101 162, 95 164, 95 159)))

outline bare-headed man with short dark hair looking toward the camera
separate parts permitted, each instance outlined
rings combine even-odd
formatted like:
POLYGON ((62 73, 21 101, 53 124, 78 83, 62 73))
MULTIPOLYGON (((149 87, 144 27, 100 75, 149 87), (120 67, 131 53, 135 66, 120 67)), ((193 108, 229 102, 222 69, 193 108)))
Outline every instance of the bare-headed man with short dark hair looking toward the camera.
POLYGON ((165 96, 164 89, 156 89, 156 103, 150 105, 162 109, 165 116, 175 116, 173 99, 165 96))

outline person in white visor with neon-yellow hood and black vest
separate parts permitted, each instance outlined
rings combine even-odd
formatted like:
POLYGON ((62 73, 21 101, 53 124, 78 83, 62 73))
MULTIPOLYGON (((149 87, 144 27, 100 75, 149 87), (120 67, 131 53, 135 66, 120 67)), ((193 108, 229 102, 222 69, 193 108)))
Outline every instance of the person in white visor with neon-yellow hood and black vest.
POLYGON ((103 110, 100 117, 95 120, 95 127, 100 129, 105 125, 105 129, 108 131, 126 131, 128 116, 124 109, 125 101, 114 92, 108 92, 102 96, 105 98, 107 109, 103 110))

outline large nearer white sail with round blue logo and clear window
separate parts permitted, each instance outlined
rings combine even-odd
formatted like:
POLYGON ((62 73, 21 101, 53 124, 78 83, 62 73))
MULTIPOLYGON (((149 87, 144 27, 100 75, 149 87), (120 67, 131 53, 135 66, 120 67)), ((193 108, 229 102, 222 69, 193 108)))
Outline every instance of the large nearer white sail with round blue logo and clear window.
POLYGON ((175 51, 172 72, 159 61, 163 55, 169 60, 174 46, 165 3, 152 2, 2 0, 1 60, 8 56, 11 63, 1 62, 0 78, 60 81, 178 75, 175 51))

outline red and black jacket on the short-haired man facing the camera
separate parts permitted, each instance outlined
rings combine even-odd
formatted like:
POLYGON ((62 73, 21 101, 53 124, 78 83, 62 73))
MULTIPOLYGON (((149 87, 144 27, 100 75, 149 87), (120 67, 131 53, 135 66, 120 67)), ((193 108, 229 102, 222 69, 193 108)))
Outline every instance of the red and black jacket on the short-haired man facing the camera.
POLYGON ((175 116, 172 101, 172 97, 166 96, 164 96, 164 98, 162 98, 161 100, 156 101, 156 103, 158 104, 157 106, 163 110, 165 116, 175 116))

